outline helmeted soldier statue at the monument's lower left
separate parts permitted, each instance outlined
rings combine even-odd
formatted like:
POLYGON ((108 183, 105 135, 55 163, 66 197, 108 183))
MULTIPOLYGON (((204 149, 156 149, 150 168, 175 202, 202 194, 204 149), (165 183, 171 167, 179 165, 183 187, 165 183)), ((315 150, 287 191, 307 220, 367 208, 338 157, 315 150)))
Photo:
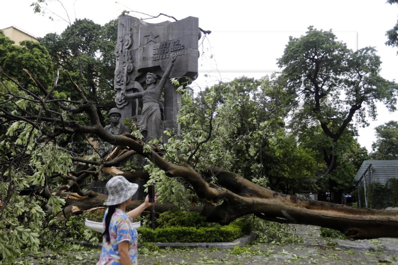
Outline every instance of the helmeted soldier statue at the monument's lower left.
MULTIPOLYGON (((108 117, 110 119, 110 124, 104 127, 105 131, 114 135, 131 133, 130 127, 123 125, 120 122, 121 113, 118 108, 111 108, 108 112, 108 117)), ((106 157, 114 148, 114 145, 110 143, 103 143, 103 141, 100 140, 100 156, 102 158, 106 157)))

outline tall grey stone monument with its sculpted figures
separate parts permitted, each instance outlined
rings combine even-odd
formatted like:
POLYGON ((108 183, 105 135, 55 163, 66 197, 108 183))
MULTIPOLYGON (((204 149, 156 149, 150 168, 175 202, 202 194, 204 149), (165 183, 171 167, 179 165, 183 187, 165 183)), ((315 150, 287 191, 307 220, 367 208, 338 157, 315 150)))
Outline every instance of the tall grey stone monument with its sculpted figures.
MULTIPOLYGON (((196 17, 147 23, 125 14, 119 16, 114 51, 116 108, 108 113, 111 124, 105 127, 106 131, 117 135, 131 132, 122 124, 125 118, 131 120, 135 116, 146 141, 162 138, 167 142, 165 135, 162 137, 164 130, 178 133, 181 94, 170 79, 185 82, 197 78, 200 35, 196 17), (120 115, 112 116, 117 113, 120 115)), ((112 143, 101 142, 101 157, 106 158, 113 148, 112 143)), ((140 198, 145 195, 142 181, 135 180, 140 185, 140 198)), ((93 181, 91 189, 106 194, 104 185, 102 180, 93 181)))

